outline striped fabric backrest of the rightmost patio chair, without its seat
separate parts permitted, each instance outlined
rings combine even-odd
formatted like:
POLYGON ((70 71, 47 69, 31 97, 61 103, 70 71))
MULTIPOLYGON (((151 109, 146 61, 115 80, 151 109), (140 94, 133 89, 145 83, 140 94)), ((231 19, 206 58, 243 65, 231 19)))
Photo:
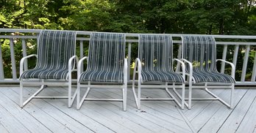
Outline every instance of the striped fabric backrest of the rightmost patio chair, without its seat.
MULTIPOLYGON (((216 41, 210 36, 182 36, 183 58, 195 71, 216 72, 216 41)), ((188 68, 188 67, 187 67, 188 68)))

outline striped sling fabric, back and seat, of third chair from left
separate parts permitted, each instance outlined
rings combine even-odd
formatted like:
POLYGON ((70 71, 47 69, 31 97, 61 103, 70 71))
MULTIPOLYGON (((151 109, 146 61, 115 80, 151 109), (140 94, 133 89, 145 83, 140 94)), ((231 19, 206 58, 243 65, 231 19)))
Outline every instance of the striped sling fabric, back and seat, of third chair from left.
POLYGON ((169 35, 139 35, 139 58, 143 82, 162 81, 184 83, 172 69, 172 39, 169 35))

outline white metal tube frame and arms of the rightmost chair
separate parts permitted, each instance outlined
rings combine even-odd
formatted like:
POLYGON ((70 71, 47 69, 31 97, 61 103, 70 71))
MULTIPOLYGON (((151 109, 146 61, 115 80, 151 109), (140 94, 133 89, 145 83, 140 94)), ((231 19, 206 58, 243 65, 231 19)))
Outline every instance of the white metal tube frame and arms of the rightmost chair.
MULTIPOLYGON (((183 38, 182 38, 183 39, 183 38)), ((182 42, 184 43, 184 42, 182 42)), ((193 65, 190 61, 186 60, 185 58, 181 58, 181 61, 183 61, 185 64, 188 64, 189 69, 188 73, 185 75, 188 76, 188 98, 185 100, 188 100, 188 103, 185 102, 185 105, 188 107, 188 109, 191 109, 191 101, 192 100, 218 100, 222 104, 226 105, 227 107, 230 107, 230 109, 233 108, 233 96, 234 96, 234 89, 235 89, 235 83, 196 83, 195 79, 193 77, 193 65), (210 94, 213 97, 210 98, 192 98, 192 89, 193 88, 204 88, 207 94, 210 94), (221 99, 219 96, 214 94, 212 91, 209 91, 208 88, 231 88, 231 94, 230 94, 230 104, 225 102, 223 99, 221 99)), ((231 77, 235 79, 235 65, 232 64, 229 61, 224 61, 223 59, 216 59, 217 61, 223 61, 226 64, 230 64, 232 71, 231 71, 231 77)), ((177 93, 176 90, 174 92, 179 96, 179 99, 182 99, 182 97, 177 93)))

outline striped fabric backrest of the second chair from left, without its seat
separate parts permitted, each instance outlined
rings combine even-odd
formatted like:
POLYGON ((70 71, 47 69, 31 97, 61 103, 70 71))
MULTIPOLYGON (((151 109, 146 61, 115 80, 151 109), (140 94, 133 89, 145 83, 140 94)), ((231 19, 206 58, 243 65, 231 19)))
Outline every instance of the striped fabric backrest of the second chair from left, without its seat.
POLYGON ((125 37, 124 34, 90 34, 88 70, 124 71, 125 37))

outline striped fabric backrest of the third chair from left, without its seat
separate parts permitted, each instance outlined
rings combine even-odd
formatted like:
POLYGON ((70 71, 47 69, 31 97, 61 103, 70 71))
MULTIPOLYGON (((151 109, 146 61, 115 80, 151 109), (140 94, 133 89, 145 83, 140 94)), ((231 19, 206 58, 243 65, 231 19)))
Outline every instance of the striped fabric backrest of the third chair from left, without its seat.
POLYGON ((171 36, 140 34, 138 57, 145 71, 164 69, 173 72, 171 36))

